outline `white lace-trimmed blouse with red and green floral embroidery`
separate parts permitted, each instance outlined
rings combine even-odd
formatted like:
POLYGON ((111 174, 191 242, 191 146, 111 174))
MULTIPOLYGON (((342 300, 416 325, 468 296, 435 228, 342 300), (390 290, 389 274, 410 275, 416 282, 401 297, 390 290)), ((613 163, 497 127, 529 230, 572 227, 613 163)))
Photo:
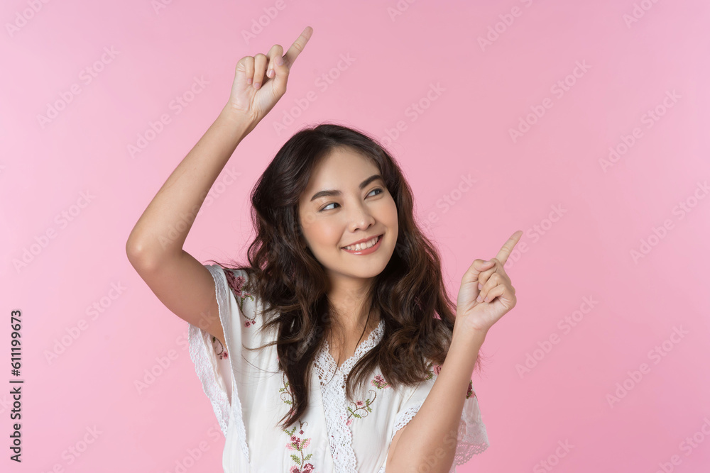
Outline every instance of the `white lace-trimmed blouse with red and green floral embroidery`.
MULTIPOLYGON (((259 347, 275 340, 275 330, 261 330, 263 304, 241 290, 249 277, 245 271, 205 267, 214 279, 226 347, 192 324, 188 337, 190 358, 226 437, 224 473, 384 473, 393 436, 422 406, 441 367, 430 365, 429 379, 399 389, 393 389, 377 369, 366 391, 347 401, 347 374, 381 340, 384 321, 380 321, 340 367, 326 343, 312 366, 305 415, 282 429, 277 423, 290 410, 293 397, 278 367, 275 345, 242 350, 242 344, 259 347)), ((450 472, 487 447, 486 426, 469 384, 450 472)))

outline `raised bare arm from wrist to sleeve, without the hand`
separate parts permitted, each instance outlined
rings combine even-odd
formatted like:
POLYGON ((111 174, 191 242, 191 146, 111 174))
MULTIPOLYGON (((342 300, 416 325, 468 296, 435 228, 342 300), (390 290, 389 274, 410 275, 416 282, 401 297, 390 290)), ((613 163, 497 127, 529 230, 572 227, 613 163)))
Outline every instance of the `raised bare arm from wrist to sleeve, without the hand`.
POLYGON ((219 339, 214 281, 199 261, 182 250, 209 189, 251 123, 225 106, 194 148, 170 174, 133 227, 126 255, 163 304, 183 320, 219 339))

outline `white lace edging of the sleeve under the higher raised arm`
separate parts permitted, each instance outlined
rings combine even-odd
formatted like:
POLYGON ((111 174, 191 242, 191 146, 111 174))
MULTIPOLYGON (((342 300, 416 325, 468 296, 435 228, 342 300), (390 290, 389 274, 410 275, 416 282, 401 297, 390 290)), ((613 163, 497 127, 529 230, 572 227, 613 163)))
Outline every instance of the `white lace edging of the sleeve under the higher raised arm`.
POLYGON ((217 359, 212 349, 212 343, 209 341, 212 335, 209 335, 205 330, 197 328, 192 324, 189 324, 187 335, 190 343, 190 358, 195 364, 195 372, 197 372, 197 377, 199 377, 202 382, 202 390, 209 398, 210 403, 212 403, 214 415, 217 416, 219 427, 222 429, 222 433, 224 433, 225 437, 227 435, 227 429, 229 428, 229 415, 230 413, 234 415, 241 451, 244 453, 246 462, 249 462, 249 445, 246 443, 246 428, 241 413, 241 401, 236 389, 236 372, 234 365, 232 365, 232 360, 234 360, 236 354, 241 353, 241 347, 236 347, 237 350, 233 350, 235 345, 231 336, 231 321, 226 317, 229 310, 227 304, 229 304, 230 301, 229 292, 226 289, 226 277, 221 267, 212 265, 205 267, 209 269, 209 273, 212 274, 212 279, 214 279, 215 296, 217 297, 217 306, 219 307, 219 321, 222 323, 222 328, 224 329, 224 342, 226 343, 226 349, 229 353, 227 359, 229 360, 231 372, 231 406, 224 382, 218 375, 217 359), (212 349, 212 353, 208 351, 210 349, 212 349))

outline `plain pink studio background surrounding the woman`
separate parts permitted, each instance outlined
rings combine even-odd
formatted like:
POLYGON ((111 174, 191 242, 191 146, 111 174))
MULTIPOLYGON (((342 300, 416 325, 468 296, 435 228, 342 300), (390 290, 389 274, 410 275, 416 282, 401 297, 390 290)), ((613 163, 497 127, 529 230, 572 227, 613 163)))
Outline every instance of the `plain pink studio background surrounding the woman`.
POLYGON ((138 277, 126 239, 217 118, 239 58, 288 48, 312 26, 288 92, 237 148, 185 250, 202 262, 245 254, 249 191, 302 126, 389 138, 454 296, 472 260, 525 232, 507 267, 518 305, 488 334, 474 377, 491 447, 459 471, 708 471, 708 2, 158 1, 2 4, 1 470, 172 473, 202 443, 186 471, 222 471, 187 323, 138 277), (209 84, 191 96, 195 77, 209 84), (171 106, 183 94, 187 106, 171 106), (40 123, 50 105, 62 109, 40 123), (132 157, 163 114, 170 123, 132 157), (294 123, 278 132, 285 116, 294 123), (625 152, 603 167, 610 147, 625 152), (461 175, 474 186, 459 190, 461 175), (21 465, 8 459, 13 309, 21 465), (72 455, 87 429, 93 443, 72 455))

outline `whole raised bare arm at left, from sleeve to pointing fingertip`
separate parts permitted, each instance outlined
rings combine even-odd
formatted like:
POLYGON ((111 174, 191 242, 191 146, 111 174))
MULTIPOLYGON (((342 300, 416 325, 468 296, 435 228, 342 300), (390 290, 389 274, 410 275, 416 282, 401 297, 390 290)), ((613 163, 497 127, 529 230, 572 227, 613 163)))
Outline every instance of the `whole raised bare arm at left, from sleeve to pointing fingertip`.
POLYGON ((155 194, 126 241, 129 262, 155 296, 224 346, 212 275, 182 245, 237 145, 285 93, 289 69, 311 34, 307 27, 286 55, 274 45, 268 55, 239 60, 228 103, 155 194))

